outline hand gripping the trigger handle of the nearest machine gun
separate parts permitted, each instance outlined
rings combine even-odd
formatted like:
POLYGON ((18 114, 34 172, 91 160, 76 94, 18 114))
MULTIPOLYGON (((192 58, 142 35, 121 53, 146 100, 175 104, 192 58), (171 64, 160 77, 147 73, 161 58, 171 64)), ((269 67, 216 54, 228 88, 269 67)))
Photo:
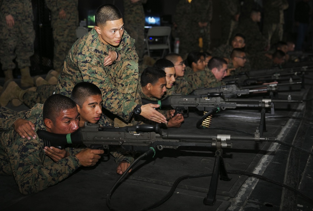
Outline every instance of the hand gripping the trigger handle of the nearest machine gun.
POLYGON ((89 148, 81 150, 75 156, 79 159, 82 166, 93 166, 100 159, 100 155, 104 153, 104 150, 92 150, 89 148))

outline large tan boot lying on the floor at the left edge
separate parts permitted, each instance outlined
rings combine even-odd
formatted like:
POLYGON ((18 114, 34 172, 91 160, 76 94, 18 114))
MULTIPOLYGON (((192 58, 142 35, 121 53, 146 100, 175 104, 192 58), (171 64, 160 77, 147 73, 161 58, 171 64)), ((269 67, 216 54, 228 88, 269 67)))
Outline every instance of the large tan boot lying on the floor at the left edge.
POLYGON ((21 89, 17 83, 15 83, 12 79, 5 82, 3 85, 3 90, 0 93, 0 105, 7 106, 9 101, 14 98, 23 101, 23 95, 27 92, 27 90, 21 89))

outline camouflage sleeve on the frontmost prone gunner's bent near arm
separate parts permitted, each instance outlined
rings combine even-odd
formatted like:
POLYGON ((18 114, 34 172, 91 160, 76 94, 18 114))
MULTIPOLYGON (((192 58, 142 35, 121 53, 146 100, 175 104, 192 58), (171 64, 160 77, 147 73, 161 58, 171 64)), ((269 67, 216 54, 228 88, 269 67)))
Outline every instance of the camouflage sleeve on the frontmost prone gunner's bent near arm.
POLYGON ((36 193, 55 185, 81 166, 74 155, 53 162, 45 155, 41 140, 23 139, 13 130, 7 133, 10 165, 22 194, 36 193))

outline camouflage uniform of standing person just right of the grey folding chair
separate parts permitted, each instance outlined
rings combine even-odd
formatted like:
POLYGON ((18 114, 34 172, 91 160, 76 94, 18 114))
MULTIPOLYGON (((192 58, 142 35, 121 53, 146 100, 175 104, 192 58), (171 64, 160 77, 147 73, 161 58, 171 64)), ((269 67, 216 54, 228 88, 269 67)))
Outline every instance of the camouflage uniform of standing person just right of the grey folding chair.
POLYGON ((194 35, 191 4, 187 0, 177 3, 173 22, 177 25, 173 34, 179 37, 179 54, 185 59, 189 52, 199 49, 198 40, 194 35))

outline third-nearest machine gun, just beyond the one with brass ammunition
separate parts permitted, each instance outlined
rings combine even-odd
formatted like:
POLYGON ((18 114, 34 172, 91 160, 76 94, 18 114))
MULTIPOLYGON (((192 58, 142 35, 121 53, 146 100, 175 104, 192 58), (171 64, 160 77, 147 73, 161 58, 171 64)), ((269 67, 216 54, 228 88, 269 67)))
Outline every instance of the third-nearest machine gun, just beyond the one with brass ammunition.
POLYGON ((301 82, 292 82, 292 83, 283 83, 283 84, 267 84, 267 85, 255 85, 255 86, 244 86, 244 87, 237 87, 234 84, 231 85, 224 85, 220 87, 214 88, 202 88, 194 90, 191 95, 212 95, 212 93, 221 93, 223 92, 223 96, 225 98, 229 97, 240 97, 242 95, 249 95, 253 92, 274 92, 279 90, 279 86, 288 86, 288 85, 295 85, 301 84, 301 82))

